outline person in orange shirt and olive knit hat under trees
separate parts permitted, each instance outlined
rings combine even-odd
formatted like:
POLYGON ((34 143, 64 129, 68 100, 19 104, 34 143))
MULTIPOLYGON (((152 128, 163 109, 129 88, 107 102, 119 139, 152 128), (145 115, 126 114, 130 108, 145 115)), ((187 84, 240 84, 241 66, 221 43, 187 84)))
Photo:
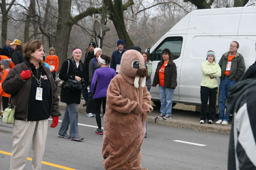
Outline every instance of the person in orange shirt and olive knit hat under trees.
POLYGON ((52 77, 55 81, 56 72, 59 68, 59 57, 55 55, 55 49, 53 47, 50 48, 50 55, 46 57, 45 63, 49 64, 50 71, 52 72, 52 77))

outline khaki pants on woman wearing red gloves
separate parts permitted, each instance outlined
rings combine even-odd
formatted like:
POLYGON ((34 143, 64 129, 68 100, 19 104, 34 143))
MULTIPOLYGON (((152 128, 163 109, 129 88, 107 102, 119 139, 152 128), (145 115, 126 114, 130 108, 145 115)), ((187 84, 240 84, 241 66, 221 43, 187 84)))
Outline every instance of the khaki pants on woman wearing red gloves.
POLYGON ((32 142, 32 169, 41 169, 48 119, 41 121, 15 120, 10 170, 22 170, 26 165, 32 142))

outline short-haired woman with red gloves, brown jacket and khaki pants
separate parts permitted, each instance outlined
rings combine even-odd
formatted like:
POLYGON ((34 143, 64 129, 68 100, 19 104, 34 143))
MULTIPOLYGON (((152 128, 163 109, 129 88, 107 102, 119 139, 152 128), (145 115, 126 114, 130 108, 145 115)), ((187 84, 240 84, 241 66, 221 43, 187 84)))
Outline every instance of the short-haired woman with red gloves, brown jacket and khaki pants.
POLYGON ((26 62, 11 69, 3 82, 3 90, 11 94, 11 106, 15 107, 10 169, 24 168, 31 142, 32 169, 41 169, 48 118, 52 116, 51 128, 59 122, 58 90, 50 70, 41 63, 43 49, 41 41, 28 41, 23 48, 26 62))

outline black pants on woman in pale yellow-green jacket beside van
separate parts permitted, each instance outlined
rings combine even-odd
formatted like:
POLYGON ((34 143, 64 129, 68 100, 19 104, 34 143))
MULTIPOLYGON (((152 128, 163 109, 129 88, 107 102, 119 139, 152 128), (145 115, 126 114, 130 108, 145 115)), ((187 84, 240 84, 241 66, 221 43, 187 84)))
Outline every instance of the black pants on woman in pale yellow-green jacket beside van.
POLYGON ((201 111, 200 111, 200 120, 206 119, 206 108, 209 99, 209 116, 207 120, 214 121, 216 114, 216 104, 217 104, 217 95, 218 95, 218 87, 210 89, 208 87, 201 86, 200 90, 201 94, 201 111))

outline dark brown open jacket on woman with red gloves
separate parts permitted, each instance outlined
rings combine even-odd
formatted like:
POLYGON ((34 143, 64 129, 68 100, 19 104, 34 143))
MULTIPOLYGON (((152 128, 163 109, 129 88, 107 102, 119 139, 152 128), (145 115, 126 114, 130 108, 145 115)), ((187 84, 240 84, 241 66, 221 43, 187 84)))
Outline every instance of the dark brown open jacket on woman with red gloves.
MULTIPOLYGON (((50 110, 50 115, 60 116, 60 109, 59 109, 59 98, 57 95, 57 87, 53 80, 52 73, 50 70, 43 66, 45 73, 47 73, 47 78, 50 80, 51 88, 52 88, 52 106, 50 110)), ((15 107, 15 117, 18 117, 22 120, 27 120, 28 118, 28 100, 29 100, 29 92, 31 87, 31 78, 22 80, 20 73, 22 70, 31 70, 28 61, 17 64, 13 67, 9 73, 7 74, 6 78, 3 82, 3 90, 4 92, 12 95, 11 105, 12 108, 15 107)))

